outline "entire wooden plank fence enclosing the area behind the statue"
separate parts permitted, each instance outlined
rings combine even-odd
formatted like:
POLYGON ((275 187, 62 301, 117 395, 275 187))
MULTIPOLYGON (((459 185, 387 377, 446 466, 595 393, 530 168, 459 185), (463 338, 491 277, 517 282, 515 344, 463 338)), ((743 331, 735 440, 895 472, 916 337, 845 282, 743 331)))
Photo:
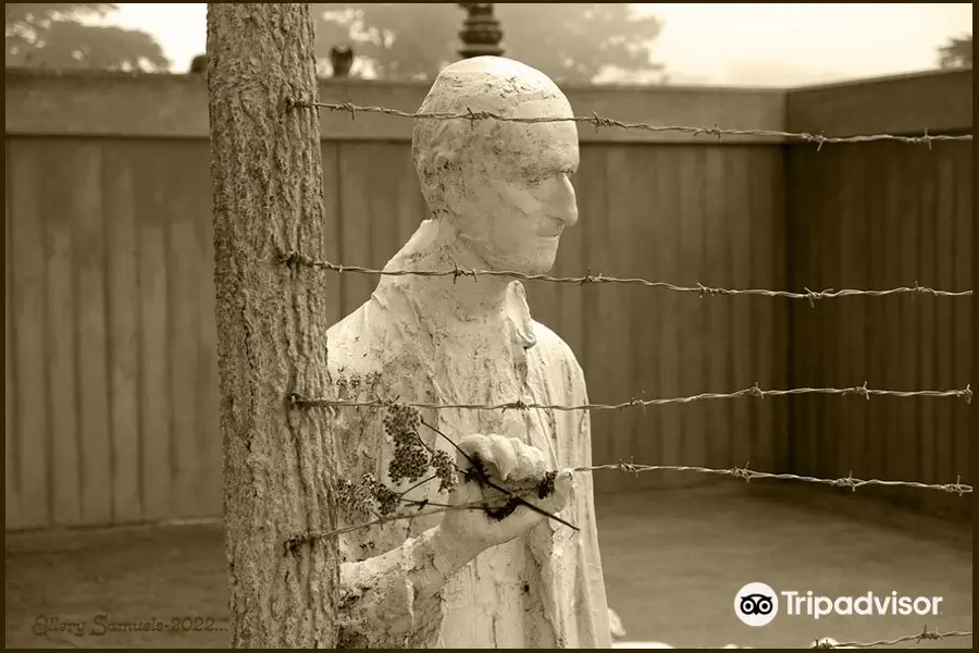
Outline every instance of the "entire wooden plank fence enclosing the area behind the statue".
MULTIPOLYGON (((654 124, 825 126, 832 134, 920 132, 925 125, 971 131, 970 75, 884 83, 907 95, 901 107, 919 114, 882 103, 879 125, 846 123, 840 114, 854 102, 872 106, 877 96, 866 86, 788 94, 591 87, 568 95, 579 114, 654 124), (907 115, 914 125, 901 122, 907 115)), ((324 82, 320 89, 324 101, 404 110, 416 109, 424 93, 420 85, 359 82, 324 82)), ((7 528, 220 515, 203 82, 9 71, 7 94, 7 528)), ((411 121, 365 114, 321 120, 329 256, 381 267, 425 217, 409 160, 411 121)), ((952 289, 971 285, 963 272, 971 260, 970 144, 938 144, 932 152, 834 145, 817 155, 811 145, 770 137, 718 143, 588 125, 580 134, 581 219, 562 238, 556 274, 591 270, 795 291, 915 280, 952 289), (881 158, 891 172, 876 165, 881 158), (909 182, 921 198, 918 208, 892 215, 892 205, 905 205, 891 188, 910 197, 909 182), (904 243, 904 222, 917 225, 912 242, 920 244, 918 258, 884 252, 884 245, 904 243), (868 257, 857 249, 864 245, 880 254, 868 257), (953 245, 954 257, 947 254, 953 245), (887 257, 890 267, 872 262, 873 256, 887 257)), ((334 319, 365 300, 376 283, 357 274, 333 279, 334 319)), ((782 299, 699 298, 608 284, 526 286, 535 317, 569 342, 598 403, 729 392, 755 382, 771 389, 865 379, 897 389, 967 382, 970 299, 851 298, 810 309, 782 299), (914 330, 895 331, 906 329, 895 324, 902 317, 914 330), (862 365, 852 362, 856 350, 865 353, 862 365), (892 373, 893 357, 903 353, 927 362, 894 366, 892 373)), ((845 476, 853 469, 939 482, 962 472, 967 482, 964 403, 875 399, 865 408, 858 402, 739 399, 595 412, 594 458, 710 467, 751 460, 759 470, 845 476), (889 417, 892 404, 901 418, 889 417), (875 411, 884 416, 868 417, 875 411), (908 420, 920 428, 912 432, 908 420), (897 426, 906 429, 900 439, 882 438, 897 426), (857 438, 877 444, 841 444, 857 438), (924 459, 926 449, 927 466, 906 464, 924 459)), ((603 492, 702 480, 684 473, 596 477, 603 492)))

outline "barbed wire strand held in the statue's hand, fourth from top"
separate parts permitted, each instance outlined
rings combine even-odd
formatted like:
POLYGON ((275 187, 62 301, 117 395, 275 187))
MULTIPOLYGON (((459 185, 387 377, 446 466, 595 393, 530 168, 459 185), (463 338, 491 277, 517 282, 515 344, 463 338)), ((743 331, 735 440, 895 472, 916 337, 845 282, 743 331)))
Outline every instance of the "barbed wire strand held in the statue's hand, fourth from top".
MULTIPOLYGON (((853 478, 853 472, 847 475, 844 478, 839 479, 822 479, 817 477, 808 477, 808 476, 798 476, 794 473, 771 473, 767 471, 756 471, 751 469, 751 463, 745 464, 744 467, 732 467, 729 469, 716 469, 710 467, 698 467, 698 466, 683 466, 683 465, 641 465, 635 463, 614 463, 608 465, 593 465, 590 467, 573 467, 569 471, 572 473, 592 473, 595 471, 621 471, 624 473, 631 475, 640 475, 650 471, 681 471, 681 472, 694 472, 694 473, 704 473, 704 475, 716 475, 716 476, 724 476, 732 479, 742 479, 745 482, 749 483, 753 480, 758 479, 768 479, 768 480, 777 480, 777 481, 797 481, 804 483, 815 483, 821 485, 830 485, 833 488, 848 488, 852 492, 856 492, 857 488, 864 488, 867 485, 884 485, 890 488, 910 488, 914 490, 932 490, 939 492, 945 492, 947 494, 957 494, 963 496, 965 494, 972 493, 972 486, 969 484, 963 484, 962 477, 957 477, 954 483, 919 483, 917 481, 887 481, 880 479, 855 479, 853 478)), ((518 494, 528 492, 531 490, 520 489, 518 494)), ((295 547, 303 542, 310 542, 313 540, 324 540, 335 538, 337 535, 370 528, 372 526, 380 526, 383 523, 388 523, 391 521, 398 521, 401 519, 416 519, 418 517, 427 517, 431 515, 438 515, 448 510, 470 510, 470 509, 484 509, 486 507, 494 507, 487 505, 490 502, 500 500, 500 498, 509 498, 508 494, 499 493, 498 495, 493 495, 487 498, 484 498, 479 502, 460 504, 457 506, 439 506, 437 508, 432 508, 429 510, 417 510, 412 513, 405 513, 400 515, 392 515, 387 517, 380 517, 373 519, 371 521, 365 521, 363 523, 358 523, 355 526, 346 526, 343 528, 338 528, 332 531, 322 531, 322 532, 306 532, 300 535, 296 535, 290 538, 285 543, 286 551, 295 551, 295 547)), ((419 504, 425 504, 426 502, 420 501, 419 504)), ((424 505, 421 506, 422 508, 424 505)))

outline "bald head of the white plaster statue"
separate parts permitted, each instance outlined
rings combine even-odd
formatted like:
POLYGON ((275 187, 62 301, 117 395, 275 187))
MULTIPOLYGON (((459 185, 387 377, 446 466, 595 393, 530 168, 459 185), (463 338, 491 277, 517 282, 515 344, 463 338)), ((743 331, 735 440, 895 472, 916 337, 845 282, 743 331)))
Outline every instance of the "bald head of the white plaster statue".
MULTIPOLYGON (((503 57, 476 57, 446 66, 419 109, 443 114, 470 111, 503 118, 573 115, 565 94, 547 75, 503 57)), ((515 238, 528 237, 521 235, 523 226, 515 217, 560 222, 558 233, 577 220, 570 175, 578 168, 578 127, 571 121, 418 119, 411 155, 429 207, 438 217, 457 220, 462 235, 480 241, 476 245, 487 257, 493 249, 516 247, 515 238), (503 233, 506 230, 509 233, 503 233)), ((538 231, 555 229, 545 225, 538 231)))

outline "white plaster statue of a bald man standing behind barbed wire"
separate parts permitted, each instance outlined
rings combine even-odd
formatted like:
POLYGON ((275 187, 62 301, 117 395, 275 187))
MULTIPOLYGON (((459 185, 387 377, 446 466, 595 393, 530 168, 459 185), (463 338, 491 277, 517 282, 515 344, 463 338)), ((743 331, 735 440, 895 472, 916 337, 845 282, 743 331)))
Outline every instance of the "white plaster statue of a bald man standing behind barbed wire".
MULTIPOLYGON (((469 109, 572 115, 548 77, 499 57, 444 69, 420 111, 469 109)), ((419 119, 412 156, 432 218, 386 270, 552 268, 561 231, 578 220, 573 122, 419 119)), ((531 318, 523 286, 507 276, 382 276, 371 298, 330 330, 327 345, 340 399, 587 403, 571 349, 531 318)), ((412 483, 388 480, 394 444, 383 414, 337 409, 339 472, 407 490, 412 483)), ((478 453, 500 480, 591 464, 586 411, 423 409, 421 416, 478 453)), ((453 452, 422 431, 426 446, 453 452)), ((535 504, 579 530, 519 507, 504 518, 450 510, 343 535, 340 645, 610 646, 591 475, 562 471, 554 485, 535 504)), ((441 492, 432 482, 406 497, 457 505, 483 492, 472 482, 441 492)))

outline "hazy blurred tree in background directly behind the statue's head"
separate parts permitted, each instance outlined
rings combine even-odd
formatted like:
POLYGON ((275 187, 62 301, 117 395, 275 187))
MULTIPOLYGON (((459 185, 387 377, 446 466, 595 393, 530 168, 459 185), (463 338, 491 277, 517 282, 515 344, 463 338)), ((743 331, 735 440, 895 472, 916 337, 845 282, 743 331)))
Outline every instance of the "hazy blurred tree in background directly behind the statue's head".
MULTIPOLYGON (((656 77, 649 46, 661 22, 634 15, 625 3, 497 3, 505 56, 519 59, 558 82, 590 82, 614 66, 631 77, 656 77)), ((387 81, 433 79, 459 59, 463 12, 447 3, 313 4, 317 56, 349 45, 358 61, 352 75, 368 71, 387 81)))

